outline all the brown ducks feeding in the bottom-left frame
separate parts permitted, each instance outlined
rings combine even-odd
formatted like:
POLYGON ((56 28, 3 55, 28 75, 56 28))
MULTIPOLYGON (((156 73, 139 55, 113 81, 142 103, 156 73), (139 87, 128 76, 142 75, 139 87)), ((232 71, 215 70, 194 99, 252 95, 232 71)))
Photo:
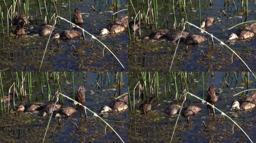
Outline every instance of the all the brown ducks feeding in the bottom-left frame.
MULTIPOLYGON (((80 86, 78 89, 76 101, 85 104, 85 88, 84 86, 80 86)), ((111 113, 111 112, 121 112, 128 108, 128 95, 121 99, 113 100, 109 106, 104 105, 101 107, 101 113, 111 113)), ((62 107, 60 104, 50 103, 31 103, 27 105, 18 105, 17 111, 19 112, 34 112, 40 111, 42 116, 51 114, 54 112, 55 118, 67 118, 73 115, 76 112, 76 109, 72 107, 62 107), (54 109, 54 110, 53 110, 54 109)))

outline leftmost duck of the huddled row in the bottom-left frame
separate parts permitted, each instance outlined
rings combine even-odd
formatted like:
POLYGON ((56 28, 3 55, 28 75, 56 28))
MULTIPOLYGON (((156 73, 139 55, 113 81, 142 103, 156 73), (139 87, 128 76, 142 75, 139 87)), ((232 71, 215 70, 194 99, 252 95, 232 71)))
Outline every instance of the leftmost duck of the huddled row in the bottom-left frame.
POLYGON ((46 104, 44 103, 31 103, 31 104, 27 104, 27 105, 19 105, 17 107, 17 111, 24 111, 24 112, 33 112, 33 111, 41 111, 46 104))

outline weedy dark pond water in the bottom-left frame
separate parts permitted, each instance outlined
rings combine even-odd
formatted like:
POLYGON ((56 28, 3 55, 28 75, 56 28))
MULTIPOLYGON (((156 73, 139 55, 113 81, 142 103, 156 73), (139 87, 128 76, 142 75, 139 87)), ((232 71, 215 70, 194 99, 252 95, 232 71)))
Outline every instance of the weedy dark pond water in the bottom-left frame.
MULTIPOLYGON (((16 73, 13 73, 14 78, 16 73)), ((49 73, 49 85, 54 96, 54 79, 53 73, 49 73)), ((120 73, 116 76, 116 73, 109 72, 109 80, 106 72, 104 73, 74 73, 74 90, 75 96, 80 85, 85 86, 86 90, 86 102, 85 106, 92 111, 99 114, 100 108, 103 105, 109 105, 113 101, 114 97, 118 97, 127 93, 127 82, 128 73, 122 72, 122 79, 119 78, 120 73), (117 77, 117 78, 116 78, 117 77), (121 82, 121 88, 119 88, 119 80, 121 82), (97 86, 98 85, 98 86, 97 86), (121 90, 120 90, 121 89, 121 90)), ((21 75, 21 73, 19 73, 21 75)), ((24 74, 25 75, 25 74, 24 74)), ((42 73, 41 73, 42 75, 42 73)), ((60 76, 60 87, 61 93, 73 98, 73 79, 71 72, 59 73, 60 76)), ((8 91, 12 85, 12 77, 10 74, 6 74, 4 77, 4 91, 8 91)), ((42 77, 44 98, 42 98, 42 90, 40 85, 39 73, 37 73, 37 83, 35 73, 32 72, 32 90, 31 90, 31 103, 36 102, 47 102, 48 87, 46 86, 46 77, 42 77), (37 94, 36 94, 37 92, 37 94)), ((16 78, 15 78, 16 80, 16 78)), ((28 84, 26 82, 26 84, 28 84)), ((28 86, 26 87, 28 88, 28 86)), ((56 88, 57 89, 57 84, 56 88)), ((19 104, 25 104, 29 102, 28 89, 27 98, 24 100, 15 99, 15 106, 19 104)), ((6 92, 5 92, 6 94, 6 92)), ((49 124, 48 132, 46 134, 45 142, 113 142, 119 143, 120 139, 106 124, 99 118, 95 117, 92 113, 85 113, 79 111, 73 102, 63 97, 63 107, 73 107, 77 112, 69 118, 62 118, 59 123, 59 119, 52 118, 49 124), (78 129, 76 128, 76 125, 78 129)), ((61 104, 61 100, 58 102, 61 104)), ((12 142, 42 142, 45 135, 46 127, 49 121, 49 115, 42 117, 38 112, 36 113, 21 113, 11 111, 13 109, 13 102, 10 102, 9 113, 3 113, 0 117, 0 140, 5 143, 12 142)), ((6 104, 7 111, 7 104, 6 104)), ((119 136, 127 142, 128 140, 128 111, 116 113, 116 114, 99 114, 101 118, 107 121, 119 134, 119 136)))

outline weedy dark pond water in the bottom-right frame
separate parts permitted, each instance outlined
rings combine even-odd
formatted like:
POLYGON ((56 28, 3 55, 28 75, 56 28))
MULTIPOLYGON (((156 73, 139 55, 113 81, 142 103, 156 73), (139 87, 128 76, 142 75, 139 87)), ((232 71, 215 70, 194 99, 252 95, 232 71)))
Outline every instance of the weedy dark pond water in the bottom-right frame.
MULTIPOLYGON (((151 78, 154 73, 151 73, 151 78)), ((187 73, 188 75, 188 89, 189 92, 203 98, 202 95, 202 72, 187 73)), ((234 73, 226 75, 225 72, 214 72, 204 73, 204 97, 207 96, 207 88, 210 84, 213 84, 216 90, 216 95, 219 96, 218 101, 214 104, 215 107, 219 108, 226 115, 231 117, 241 128, 247 133, 252 141, 256 140, 255 127, 256 127, 256 110, 240 111, 240 112, 230 112, 232 102, 234 100, 240 101, 241 97, 233 96, 234 94, 248 89, 247 83, 243 82, 242 74, 236 73, 238 81, 234 73), (225 82, 226 81, 226 82, 225 82), (227 86, 227 84, 229 86, 227 86)), ((148 76, 148 74, 147 74, 148 76)), ((129 111, 129 143, 136 142, 153 142, 153 143, 166 143, 170 142, 171 136, 173 134, 174 125, 178 115, 166 115, 165 109, 174 104, 175 97, 175 85, 173 76, 167 73, 159 73, 159 101, 157 99, 152 103, 152 111, 146 115, 141 114, 139 105, 138 87, 135 88, 135 111, 129 111), (167 76, 170 80, 170 95, 168 82, 166 77, 166 82, 164 82, 164 76, 167 76), (166 86, 164 84, 166 83, 166 86), (166 88, 166 89, 165 89, 166 88), (164 92, 166 90, 166 92, 164 92), (166 93, 166 94, 165 94, 166 93), (166 96, 166 98, 165 98, 166 96)), ((147 77, 148 78, 148 77, 147 77)), ((179 96, 181 96, 182 89, 180 88, 180 76, 176 72, 177 79, 177 89, 179 96)), ((183 79, 183 77, 182 77, 183 79)), ((255 80, 250 76, 249 88, 255 88, 255 80)), ((135 85, 141 81, 141 73, 129 73, 129 87, 131 94, 132 109, 134 106, 133 102, 133 89, 135 85)), ((148 86, 148 85, 147 85, 148 86)), ((154 83, 153 83, 154 86, 154 83)), ((185 88, 185 83, 182 83, 183 89, 185 88)), ((156 89, 154 89, 156 90, 156 89)), ((145 89, 144 99, 146 99, 145 89)), ((149 95, 149 91, 147 92, 149 95)), ((244 96, 252 95, 253 91, 245 92, 244 96)), ((141 95, 140 95, 141 96, 141 95)), ((201 101, 195 97, 189 96, 187 101, 184 102, 183 107, 187 106, 197 106, 202 108, 198 114, 190 117, 189 121, 187 117, 180 115, 177 122, 176 130, 172 139, 172 142, 185 142, 185 143, 197 143, 197 142, 249 142, 247 137, 243 132, 232 123, 228 118, 220 114, 219 111, 215 110, 215 116, 212 109, 210 109, 210 115, 206 105, 203 105, 201 101), (189 99, 190 98, 190 99, 189 99), (203 122, 207 127, 204 127, 203 122), (232 133, 234 130, 234 133, 232 133)), ((177 102, 177 104, 182 105, 182 99, 177 102)))

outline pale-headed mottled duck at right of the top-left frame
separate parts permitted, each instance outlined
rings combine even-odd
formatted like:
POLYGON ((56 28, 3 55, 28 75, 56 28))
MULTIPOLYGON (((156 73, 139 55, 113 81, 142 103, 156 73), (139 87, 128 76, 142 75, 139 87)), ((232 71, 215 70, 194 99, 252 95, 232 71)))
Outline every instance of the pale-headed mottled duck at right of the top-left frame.
POLYGON ((128 16, 123 17, 121 20, 113 21, 109 23, 107 28, 103 28, 100 31, 100 35, 115 35, 124 32, 128 26, 128 16))

